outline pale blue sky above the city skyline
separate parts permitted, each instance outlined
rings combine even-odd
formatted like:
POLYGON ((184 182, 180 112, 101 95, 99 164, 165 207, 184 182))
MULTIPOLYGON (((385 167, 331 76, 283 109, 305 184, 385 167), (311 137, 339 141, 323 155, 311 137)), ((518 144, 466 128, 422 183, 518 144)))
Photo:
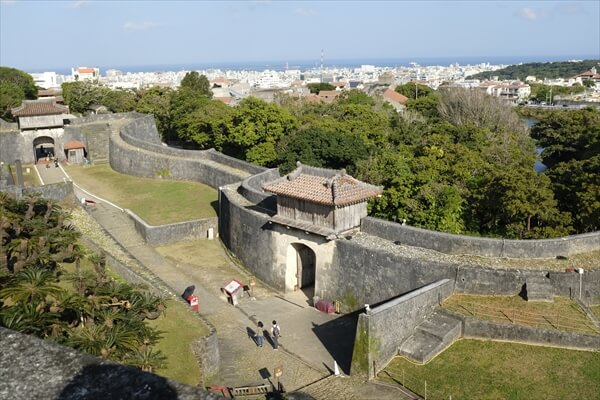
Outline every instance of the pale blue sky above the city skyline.
POLYGON ((0 0, 28 71, 245 61, 600 58, 600 1, 0 0))

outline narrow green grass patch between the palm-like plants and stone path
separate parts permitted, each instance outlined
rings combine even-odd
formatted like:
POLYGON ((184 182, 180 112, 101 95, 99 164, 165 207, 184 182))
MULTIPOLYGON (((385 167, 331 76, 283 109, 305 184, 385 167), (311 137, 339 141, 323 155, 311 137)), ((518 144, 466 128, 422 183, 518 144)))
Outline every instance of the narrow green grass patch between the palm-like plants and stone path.
POLYGON ((167 302, 166 316, 148 322, 163 332, 156 349, 167 356, 167 366, 156 373, 177 382, 198 385, 200 367, 192 353, 191 343, 208 335, 206 325, 192 315, 188 306, 175 300, 167 302))

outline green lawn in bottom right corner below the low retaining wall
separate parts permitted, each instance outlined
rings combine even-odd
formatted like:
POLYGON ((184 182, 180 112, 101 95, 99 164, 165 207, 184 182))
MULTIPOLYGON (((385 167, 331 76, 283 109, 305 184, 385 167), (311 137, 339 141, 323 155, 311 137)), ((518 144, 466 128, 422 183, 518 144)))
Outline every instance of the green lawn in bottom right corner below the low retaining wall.
POLYGON ((600 399, 600 353, 459 340, 427 365, 396 357, 379 380, 428 399, 600 399))

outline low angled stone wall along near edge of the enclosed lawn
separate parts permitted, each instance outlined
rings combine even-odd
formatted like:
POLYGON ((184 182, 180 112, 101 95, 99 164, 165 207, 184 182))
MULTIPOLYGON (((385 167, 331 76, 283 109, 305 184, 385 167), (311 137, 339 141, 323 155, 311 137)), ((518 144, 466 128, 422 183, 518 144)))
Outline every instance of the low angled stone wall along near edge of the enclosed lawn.
POLYGON ((135 230, 144 238, 146 243, 159 245, 180 240, 207 239, 208 230, 213 229, 213 237, 217 237, 219 221, 217 217, 197 219, 165 225, 148 225, 131 210, 125 210, 133 221, 135 230))

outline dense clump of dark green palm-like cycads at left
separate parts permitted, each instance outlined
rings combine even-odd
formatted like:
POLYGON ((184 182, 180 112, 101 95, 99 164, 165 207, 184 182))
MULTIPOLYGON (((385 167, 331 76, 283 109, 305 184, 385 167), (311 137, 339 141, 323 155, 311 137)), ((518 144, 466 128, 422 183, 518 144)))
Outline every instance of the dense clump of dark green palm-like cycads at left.
POLYGON ((68 214, 49 200, 0 193, 0 326, 153 371, 164 301, 117 282, 102 256, 88 254, 68 214), (83 268, 88 259, 91 268, 83 268), (65 263, 74 264, 71 271, 65 263))

